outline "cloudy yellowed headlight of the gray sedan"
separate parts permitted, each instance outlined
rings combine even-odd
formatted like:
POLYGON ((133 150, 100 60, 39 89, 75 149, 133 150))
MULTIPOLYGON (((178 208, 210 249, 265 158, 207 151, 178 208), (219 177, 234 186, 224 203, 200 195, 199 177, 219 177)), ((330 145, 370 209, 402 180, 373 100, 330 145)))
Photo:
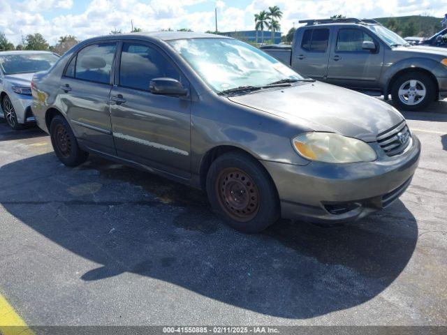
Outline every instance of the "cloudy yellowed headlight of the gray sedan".
POLYGON ((302 157, 325 163, 372 162, 376 152, 369 144, 335 133, 304 133, 292 140, 302 157))

